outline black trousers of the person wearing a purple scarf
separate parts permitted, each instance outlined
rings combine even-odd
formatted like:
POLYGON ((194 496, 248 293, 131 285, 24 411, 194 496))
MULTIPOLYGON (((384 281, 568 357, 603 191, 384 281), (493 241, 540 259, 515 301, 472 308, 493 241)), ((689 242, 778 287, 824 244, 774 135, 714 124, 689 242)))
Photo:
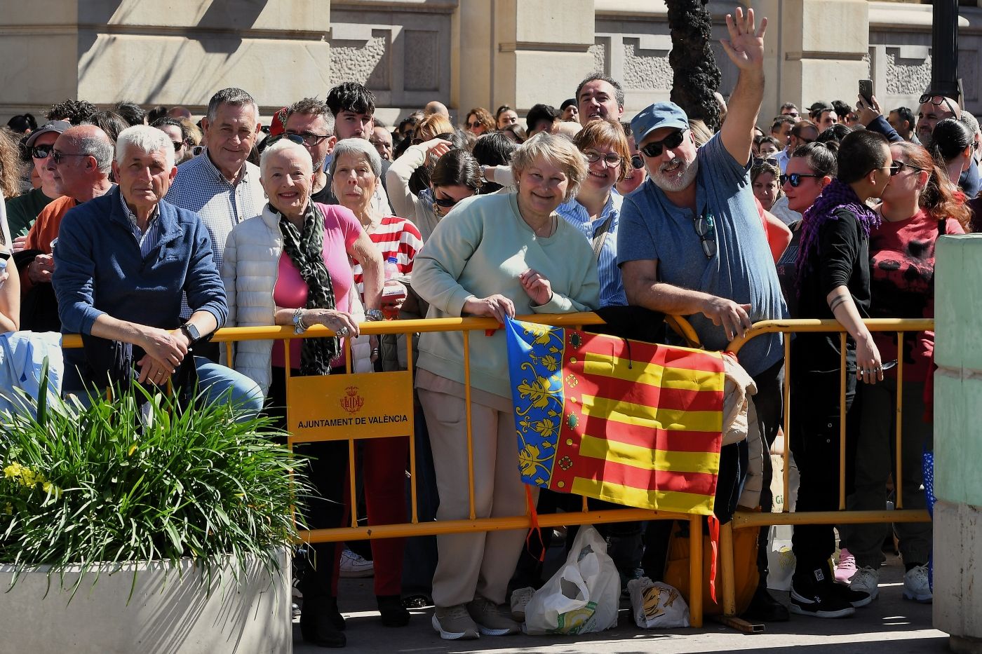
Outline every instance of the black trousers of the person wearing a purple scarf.
MULTIPOLYGON (((855 419, 855 357, 846 364, 846 429, 855 419)), ((792 359, 793 361, 793 359, 792 359)), ((839 509, 840 371, 792 370, 791 453, 800 473, 798 513, 839 509)), ((850 460, 846 452, 846 463, 850 460)), ((846 494, 850 492, 846 468, 846 494)), ((824 565, 836 551, 832 524, 798 524, 792 550, 796 571, 812 571, 824 565)))

